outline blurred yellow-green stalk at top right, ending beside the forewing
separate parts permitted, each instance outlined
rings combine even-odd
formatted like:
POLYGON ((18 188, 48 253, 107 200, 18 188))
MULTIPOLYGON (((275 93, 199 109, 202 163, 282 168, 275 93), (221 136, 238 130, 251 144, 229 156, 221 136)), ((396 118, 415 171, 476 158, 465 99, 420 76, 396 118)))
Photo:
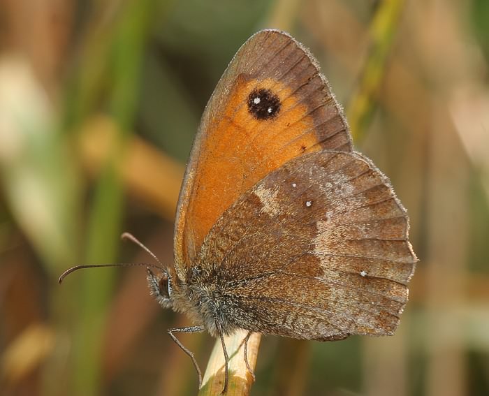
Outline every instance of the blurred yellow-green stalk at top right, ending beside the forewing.
POLYGON ((353 140, 358 141, 363 138, 365 128, 370 121, 376 103, 375 96, 384 78, 386 61, 399 27, 403 6, 404 0, 381 1, 370 24, 369 33, 372 40, 370 54, 363 68, 358 88, 353 92, 346 111, 353 140))

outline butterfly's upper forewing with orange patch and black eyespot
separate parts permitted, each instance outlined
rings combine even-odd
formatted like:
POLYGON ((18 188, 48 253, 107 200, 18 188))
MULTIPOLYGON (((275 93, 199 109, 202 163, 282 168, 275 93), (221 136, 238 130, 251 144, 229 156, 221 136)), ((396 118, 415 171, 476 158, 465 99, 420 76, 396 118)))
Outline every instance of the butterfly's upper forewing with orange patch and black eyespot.
POLYGON ((314 57, 284 32, 258 32, 235 55, 203 114, 177 210, 179 276, 242 193, 290 159, 325 148, 350 152, 351 137, 314 57))

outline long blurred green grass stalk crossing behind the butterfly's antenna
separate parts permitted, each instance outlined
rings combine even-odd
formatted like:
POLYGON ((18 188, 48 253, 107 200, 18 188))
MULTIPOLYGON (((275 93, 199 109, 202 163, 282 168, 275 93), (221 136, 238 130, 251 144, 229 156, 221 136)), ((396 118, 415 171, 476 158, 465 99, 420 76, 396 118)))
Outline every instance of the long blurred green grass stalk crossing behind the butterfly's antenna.
MULTIPOLYGON (((119 126, 120 134, 96 182, 88 220, 85 263, 112 263, 117 257, 123 207, 123 183, 117 163, 124 161, 125 143, 138 100, 141 59, 156 3, 155 0, 125 3, 113 35, 107 38, 105 50, 108 57, 103 58, 108 61, 105 73, 112 87, 108 110, 119 126)), ((99 59, 92 60, 98 67, 103 66, 99 59)), ((95 71, 99 73, 100 69, 97 71, 95 68, 95 71)), ((96 96, 87 91, 81 97, 82 103, 75 107, 77 112, 73 113, 73 119, 93 105, 84 102, 90 97, 96 96)), ((105 314, 114 277, 115 272, 110 270, 80 273, 83 290, 75 317, 71 395, 96 395, 101 391, 101 343, 105 336, 105 314)))

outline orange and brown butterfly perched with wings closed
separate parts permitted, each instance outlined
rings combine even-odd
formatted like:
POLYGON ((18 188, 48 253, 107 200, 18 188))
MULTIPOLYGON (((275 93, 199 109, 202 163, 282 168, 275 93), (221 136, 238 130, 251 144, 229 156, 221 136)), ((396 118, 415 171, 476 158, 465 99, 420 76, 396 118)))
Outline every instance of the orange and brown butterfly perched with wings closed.
MULTIPOLYGON (((242 45, 203 113, 175 221, 173 267, 147 270, 164 308, 220 337, 238 328, 330 341, 392 335, 416 256, 388 178, 353 151, 312 54, 283 31, 242 45)), ((139 243, 138 241, 136 241, 139 243)))

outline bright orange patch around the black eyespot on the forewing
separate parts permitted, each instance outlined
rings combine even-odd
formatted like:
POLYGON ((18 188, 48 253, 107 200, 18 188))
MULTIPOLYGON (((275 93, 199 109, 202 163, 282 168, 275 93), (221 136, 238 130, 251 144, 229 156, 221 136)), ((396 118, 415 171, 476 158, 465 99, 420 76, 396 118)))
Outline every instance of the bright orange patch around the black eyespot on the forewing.
POLYGON ((314 147, 318 138, 309 108, 281 82, 240 76, 229 98, 208 126, 195 170, 185 232, 196 253, 215 221, 243 192, 309 147, 321 149, 314 147), (281 107, 275 117, 256 119, 250 114, 247 100, 255 88, 279 96, 281 107))

